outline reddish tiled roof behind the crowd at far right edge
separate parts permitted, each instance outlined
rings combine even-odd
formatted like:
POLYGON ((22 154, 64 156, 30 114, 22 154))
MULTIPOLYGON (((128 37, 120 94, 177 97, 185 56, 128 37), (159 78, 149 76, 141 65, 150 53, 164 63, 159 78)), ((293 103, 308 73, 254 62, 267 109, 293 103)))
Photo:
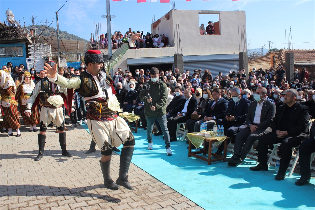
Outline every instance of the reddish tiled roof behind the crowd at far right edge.
MULTIPOLYGON (((294 61, 315 61, 315 49, 310 50, 302 50, 302 49, 294 49, 294 50, 285 50, 280 49, 278 51, 275 51, 275 60, 283 62, 285 61, 285 54, 286 53, 294 53, 294 61)), ((259 58, 250 60, 248 63, 261 63, 261 62, 271 62, 270 54, 267 53, 264 56, 261 56, 259 58)))

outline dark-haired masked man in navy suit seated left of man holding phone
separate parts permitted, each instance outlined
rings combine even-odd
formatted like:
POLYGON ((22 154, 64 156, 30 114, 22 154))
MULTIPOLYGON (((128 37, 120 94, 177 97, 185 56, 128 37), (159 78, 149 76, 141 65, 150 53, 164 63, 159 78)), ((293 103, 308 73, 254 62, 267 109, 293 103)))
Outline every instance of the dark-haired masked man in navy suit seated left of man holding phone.
POLYGON ((214 124, 225 117, 225 112, 227 110, 228 100, 221 97, 221 89, 213 88, 212 98, 213 100, 209 102, 208 109, 202 120, 195 122, 194 132, 200 131, 200 124, 203 122, 207 123, 208 128, 212 129, 214 124))

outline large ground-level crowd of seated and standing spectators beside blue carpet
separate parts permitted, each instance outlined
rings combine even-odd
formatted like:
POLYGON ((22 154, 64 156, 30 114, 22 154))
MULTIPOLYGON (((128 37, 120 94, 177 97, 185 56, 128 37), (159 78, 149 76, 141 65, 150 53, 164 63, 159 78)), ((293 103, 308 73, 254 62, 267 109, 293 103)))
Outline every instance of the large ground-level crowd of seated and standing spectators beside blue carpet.
MULTIPOLYGON (((278 154, 281 156, 280 169, 276 176, 277 180, 282 180, 289 167, 291 148, 315 135, 315 126, 308 128, 309 120, 315 117, 315 79, 308 82, 309 74, 305 68, 296 69, 292 81, 287 80, 281 64, 276 69, 253 68, 249 75, 245 69, 226 75, 221 72, 212 75, 209 70, 201 69, 180 73, 178 68, 174 72, 159 73, 158 81, 167 85, 166 117, 170 141, 177 140, 178 123, 185 122, 189 133, 199 132, 201 123, 207 124, 208 129, 213 129, 215 124, 223 125, 224 135, 230 137, 228 144, 231 139, 235 142, 234 155, 226 159, 230 166, 242 164, 247 152, 259 140, 256 149, 260 164, 250 169, 268 170, 268 146, 282 142, 281 154, 278 154)), ((140 128, 146 128, 147 122, 145 102, 140 100, 139 94, 150 77, 150 70, 136 69, 133 75, 118 69, 113 78, 120 107, 123 112, 135 110, 142 122, 141 126, 138 122, 140 128)), ((154 135, 163 135, 159 123, 155 123, 157 131, 154 135)), ((309 146, 313 142, 305 144, 309 146)), ((222 155, 222 151, 223 144, 215 154, 222 155)), ((305 172, 305 168, 303 170, 302 178, 308 180, 310 173, 305 172)), ((307 180, 300 179, 297 184, 303 185, 307 180)))

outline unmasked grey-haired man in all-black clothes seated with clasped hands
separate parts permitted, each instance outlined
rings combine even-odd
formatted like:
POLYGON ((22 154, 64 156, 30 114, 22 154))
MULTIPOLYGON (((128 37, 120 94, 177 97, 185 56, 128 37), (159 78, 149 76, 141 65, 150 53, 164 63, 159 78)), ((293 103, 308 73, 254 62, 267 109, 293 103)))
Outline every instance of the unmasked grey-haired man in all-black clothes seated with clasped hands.
POLYGON ((297 103, 298 92, 295 89, 285 91, 284 103, 279 106, 272 120, 272 132, 259 137, 258 162, 253 171, 268 171, 268 146, 281 143, 280 168, 276 180, 283 180, 289 167, 292 155, 292 147, 299 146, 302 140, 309 138, 308 120, 309 108, 297 103))

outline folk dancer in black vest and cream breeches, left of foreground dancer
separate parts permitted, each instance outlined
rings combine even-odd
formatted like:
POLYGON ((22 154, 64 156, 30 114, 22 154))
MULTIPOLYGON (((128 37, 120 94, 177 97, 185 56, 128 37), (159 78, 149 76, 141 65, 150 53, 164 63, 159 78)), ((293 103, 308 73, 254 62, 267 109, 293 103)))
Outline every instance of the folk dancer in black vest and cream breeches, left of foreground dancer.
MULTIPOLYGON (((54 61, 47 61, 47 65, 54 66, 54 61)), ((38 134, 38 156, 34 159, 39 161, 44 154, 45 140, 46 140, 46 130, 47 125, 51 122, 56 124, 59 133, 59 143, 62 150, 62 155, 67 157, 72 157, 72 155, 66 149, 66 131, 65 131, 65 119, 63 117, 62 104, 65 104, 67 95, 67 89, 63 88, 63 93, 60 92, 58 86, 53 82, 50 82, 47 77, 40 79, 31 96, 29 97, 26 108, 25 115, 31 116, 32 111, 39 103, 42 105, 39 114, 39 134, 38 134)), ((71 94, 70 94, 71 95, 71 94)), ((71 95, 72 97, 72 95, 71 95)))

